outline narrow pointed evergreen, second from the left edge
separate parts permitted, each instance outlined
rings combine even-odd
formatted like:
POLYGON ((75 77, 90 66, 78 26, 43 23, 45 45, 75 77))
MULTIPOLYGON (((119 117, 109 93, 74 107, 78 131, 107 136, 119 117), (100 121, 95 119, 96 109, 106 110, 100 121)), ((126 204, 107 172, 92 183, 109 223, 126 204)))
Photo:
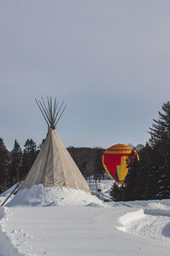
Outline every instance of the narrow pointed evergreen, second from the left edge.
POLYGON ((15 139, 14 148, 11 152, 11 163, 10 163, 11 185, 20 181, 21 161, 22 161, 22 149, 20 148, 20 144, 15 139))

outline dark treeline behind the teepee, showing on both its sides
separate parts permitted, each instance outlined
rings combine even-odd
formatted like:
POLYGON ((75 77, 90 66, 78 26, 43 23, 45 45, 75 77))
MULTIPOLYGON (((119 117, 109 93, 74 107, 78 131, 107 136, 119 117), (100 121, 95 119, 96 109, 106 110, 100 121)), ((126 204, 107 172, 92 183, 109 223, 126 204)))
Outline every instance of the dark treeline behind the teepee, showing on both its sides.
MULTIPOLYGON (((8 152, 3 138, 0 138, 0 194, 26 177, 41 148, 42 144, 37 145, 32 139, 27 139, 22 150, 15 140, 13 150, 8 152)), ((105 177, 102 165, 105 149, 74 147, 67 149, 86 179, 93 176, 94 180, 100 180, 105 177)))

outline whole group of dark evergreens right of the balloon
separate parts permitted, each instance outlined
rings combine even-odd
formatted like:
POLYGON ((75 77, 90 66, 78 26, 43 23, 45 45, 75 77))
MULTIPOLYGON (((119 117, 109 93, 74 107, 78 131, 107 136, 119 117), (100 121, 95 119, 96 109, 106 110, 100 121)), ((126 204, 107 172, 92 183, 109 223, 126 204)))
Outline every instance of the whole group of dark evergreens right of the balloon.
POLYGON ((170 198, 170 102, 162 105, 149 133, 149 142, 139 151, 139 160, 133 152, 127 159, 125 183, 112 186, 114 201, 170 198))

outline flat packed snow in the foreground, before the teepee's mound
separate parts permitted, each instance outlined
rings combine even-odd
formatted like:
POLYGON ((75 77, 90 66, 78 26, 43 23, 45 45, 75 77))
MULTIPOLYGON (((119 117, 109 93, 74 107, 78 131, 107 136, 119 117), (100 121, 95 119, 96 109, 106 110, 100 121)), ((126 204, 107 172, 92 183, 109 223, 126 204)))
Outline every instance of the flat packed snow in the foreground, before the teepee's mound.
POLYGON ((10 207, 8 210, 10 217, 3 229, 14 247, 26 256, 169 255, 167 244, 116 230, 117 219, 126 212, 137 211, 135 207, 10 207))

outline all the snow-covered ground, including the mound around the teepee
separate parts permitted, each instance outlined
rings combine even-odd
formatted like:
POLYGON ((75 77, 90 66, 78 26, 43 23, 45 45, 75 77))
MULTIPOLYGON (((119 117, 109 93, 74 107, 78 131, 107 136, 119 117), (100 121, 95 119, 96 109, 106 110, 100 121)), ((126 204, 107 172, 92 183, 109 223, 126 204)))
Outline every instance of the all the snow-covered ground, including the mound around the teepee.
POLYGON ((98 198, 41 185, 15 195, 0 207, 0 256, 170 255, 170 201, 105 203, 111 184, 89 184, 98 198))

